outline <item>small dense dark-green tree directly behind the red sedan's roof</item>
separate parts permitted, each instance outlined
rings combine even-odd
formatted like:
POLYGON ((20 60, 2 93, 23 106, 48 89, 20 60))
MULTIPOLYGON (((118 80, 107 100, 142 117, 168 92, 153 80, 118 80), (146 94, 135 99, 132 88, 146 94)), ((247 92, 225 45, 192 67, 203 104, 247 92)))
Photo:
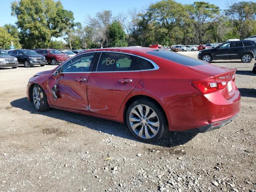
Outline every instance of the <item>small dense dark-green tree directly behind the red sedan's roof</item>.
POLYGON ((115 20, 108 27, 109 31, 109 46, 110 47, 125 47, 128 46, 125 40, 125 32, 122 29, 122 24, 115 20))

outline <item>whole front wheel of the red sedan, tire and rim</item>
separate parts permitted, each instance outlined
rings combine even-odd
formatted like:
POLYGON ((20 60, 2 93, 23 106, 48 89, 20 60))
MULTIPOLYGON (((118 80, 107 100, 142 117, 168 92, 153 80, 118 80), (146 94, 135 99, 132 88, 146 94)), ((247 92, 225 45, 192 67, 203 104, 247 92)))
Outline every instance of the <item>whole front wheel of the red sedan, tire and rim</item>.
POLYGON ((38 84, 35 84, 33 87, 32 99, 36 110, 43 112, 50 109, 47 102, 46 94, 44 93, 42 87, 40 87, 38 84))

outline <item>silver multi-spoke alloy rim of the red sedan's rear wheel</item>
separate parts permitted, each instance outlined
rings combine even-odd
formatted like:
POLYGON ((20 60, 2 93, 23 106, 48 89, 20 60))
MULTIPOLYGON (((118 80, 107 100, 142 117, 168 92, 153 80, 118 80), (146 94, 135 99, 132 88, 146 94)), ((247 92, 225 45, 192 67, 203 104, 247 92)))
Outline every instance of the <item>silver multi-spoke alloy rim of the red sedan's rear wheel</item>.
POLYGON ((136 105, 129 115, 132 130, 139 137, 150 139, 156 136, 160 128, 159 118, 156 112, 147 105, 136 105))

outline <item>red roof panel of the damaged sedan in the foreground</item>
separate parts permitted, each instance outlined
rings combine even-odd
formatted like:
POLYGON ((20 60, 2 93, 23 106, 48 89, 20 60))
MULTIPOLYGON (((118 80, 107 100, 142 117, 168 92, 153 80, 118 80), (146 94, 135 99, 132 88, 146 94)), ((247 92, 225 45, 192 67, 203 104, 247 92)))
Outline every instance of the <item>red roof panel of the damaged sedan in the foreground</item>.
POLYGON ((100 48, 100 49, 86 50, 86 52, 91 52, 91 51, 115 51, 115 52, 124 52, 124 53, 130 53, 130 54, 140 54, 140 53, 146 53, 146 52, 154 51, 154 50, 156 50, 156 48, 149 48, 149 47, 114 47, 114 48, 100 48))

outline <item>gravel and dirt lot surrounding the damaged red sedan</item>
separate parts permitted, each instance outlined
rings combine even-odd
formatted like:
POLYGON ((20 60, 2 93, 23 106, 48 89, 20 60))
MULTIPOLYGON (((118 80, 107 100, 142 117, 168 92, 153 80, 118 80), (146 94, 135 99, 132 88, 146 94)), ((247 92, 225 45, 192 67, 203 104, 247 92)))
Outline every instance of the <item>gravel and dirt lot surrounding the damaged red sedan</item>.
POLYGON ((53 66, 0 69, 0 191, 254 192, 254 61, 213 62, 238 69, 242 109, 233 122, 205 134, 170 132, 153 144, 134 139, 117 122, 37 112, 26 99, 26 84, 53 66))

